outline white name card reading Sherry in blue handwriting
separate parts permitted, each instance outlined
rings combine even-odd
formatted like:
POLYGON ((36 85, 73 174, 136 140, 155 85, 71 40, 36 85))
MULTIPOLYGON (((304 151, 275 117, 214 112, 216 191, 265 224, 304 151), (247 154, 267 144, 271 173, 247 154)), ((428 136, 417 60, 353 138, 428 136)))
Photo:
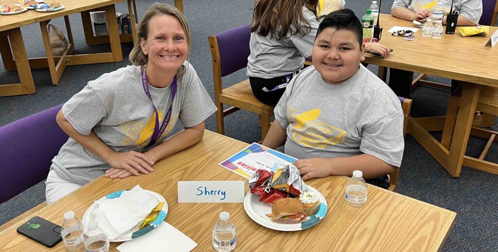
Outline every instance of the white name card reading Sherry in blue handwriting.
POLYGON ((178 202, 244 202, 245 181, 178 181, 178 202))

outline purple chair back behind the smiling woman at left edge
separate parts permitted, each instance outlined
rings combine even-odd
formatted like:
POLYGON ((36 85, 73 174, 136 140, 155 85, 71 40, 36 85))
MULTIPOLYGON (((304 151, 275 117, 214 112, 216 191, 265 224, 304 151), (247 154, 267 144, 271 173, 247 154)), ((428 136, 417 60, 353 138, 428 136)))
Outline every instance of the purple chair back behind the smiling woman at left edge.
POLYGON ((68 139, 55 116, 62 104, 0 127, 0 203, 47 178, 68 139))

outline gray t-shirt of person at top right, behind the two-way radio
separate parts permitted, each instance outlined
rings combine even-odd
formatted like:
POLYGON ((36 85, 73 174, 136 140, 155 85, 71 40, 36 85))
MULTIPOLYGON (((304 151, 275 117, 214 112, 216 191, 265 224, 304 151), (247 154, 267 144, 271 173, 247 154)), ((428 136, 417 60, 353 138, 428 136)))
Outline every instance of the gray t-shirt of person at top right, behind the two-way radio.
MULTIPOLYGON (((397 7, 406 7, 409 10, 417 12, 421 9, 426 9, 432 12, 437 2, 436 0, 394 0, 391 10, 397 7), (430 8, 428 8, 430 7, 430 8)), ((439 0, 444 6, 444 14, 450 12, 451 0, 439 0)), ((454 0, 454 10, 460 11, 460 15, 469 19, 469 21, 479 24, 479 19, 483 14, 483 3, 481 0, 454 0)))

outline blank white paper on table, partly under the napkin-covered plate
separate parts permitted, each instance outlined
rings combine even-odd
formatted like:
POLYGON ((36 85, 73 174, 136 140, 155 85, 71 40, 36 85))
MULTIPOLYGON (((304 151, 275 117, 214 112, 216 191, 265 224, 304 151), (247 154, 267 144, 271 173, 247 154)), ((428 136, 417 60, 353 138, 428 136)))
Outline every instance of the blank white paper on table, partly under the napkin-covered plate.
POLYGON ((149 233, 118 246, 120 252, 164 251, 190 252, 197 243, 167 222, 149 233))

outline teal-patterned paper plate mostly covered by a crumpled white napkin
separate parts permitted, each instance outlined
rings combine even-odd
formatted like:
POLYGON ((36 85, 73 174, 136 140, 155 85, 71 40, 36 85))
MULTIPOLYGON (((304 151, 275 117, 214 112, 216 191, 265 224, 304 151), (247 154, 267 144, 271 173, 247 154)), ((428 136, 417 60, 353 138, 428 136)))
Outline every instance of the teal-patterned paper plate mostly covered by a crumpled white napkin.
MULTIPOLYGON (((147 193, 149 193, 150 195, 152 195, 153 197, 155 197, 159 202, 164 202, 164 205, 162 206, 161 212, 159 212, 159 214, 157 215, 156 219, 152 223, 150 223, 147 227, 145 227, 145 228, 143 228, 141 230, 138 230, 138 228, 140 227, 140 224, 142 224, 140 222, 136 226, 134 226, 132 229, 130 229, 129 231, 125 232, 124 234, 116 237, 113 240, 109 240, 109 242, 124 242, 124 241, 129 241, 129 240, 136 239, 136 238, 138 238, 140 236, 143 236, 143 235, 147 234, 148 232, 154 230, 155 228, 157 228, 164 221, 164 219, 166 219, 166 215, 168 214, 168 202, 166 202, 166 199, 161 194, 159 194, 159 193, 156 193, 156 192, 153 192, 153 191, 149 191, 149 190, 144 190, 144 191, 146 191, 147 193)), ((104 199, 104 198, 108 198, 108 199, 119 198, 123 192, 124 192, 124 190, 113 192, 113 193, 110 193, 110 194, 108 194, 108 195, 100 198, 100 199, 104 199)), ((85 228, 88 225, 88 223, 90 222, 90 213, 94 212, 98 208, 99 208, 99 205, 94 202, 87 209, 87 211, 85 212, 85 214, 83 215, 83 224, 85 225, 85 228)))

